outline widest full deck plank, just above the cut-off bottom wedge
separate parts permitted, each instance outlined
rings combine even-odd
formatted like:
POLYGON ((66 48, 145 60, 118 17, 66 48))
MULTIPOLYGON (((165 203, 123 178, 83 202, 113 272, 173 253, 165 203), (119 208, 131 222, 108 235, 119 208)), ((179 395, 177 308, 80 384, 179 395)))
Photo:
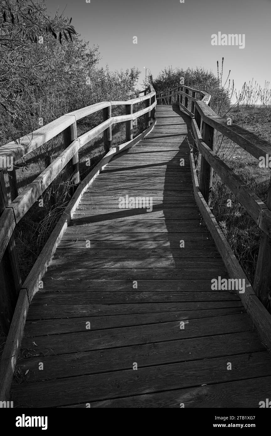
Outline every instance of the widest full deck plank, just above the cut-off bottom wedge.
POLYGON ((86 403, 90 400, 112 399, 127 395, 127 392, 139 395, 148 392, 149 386, 152 386, 152 392, 161 392, 210 385, 214 379, 220 383, 244 380, 253 378, 255 372, 259 377, 271 375, 270 359, 266 352, 251 353, 250 359, 246 354, 237 354, 231 356, 231 362, 234 371, 227 371, 224 357, 151 368, 140 368, 138 362, 138 371, 133 371, 131 364, 131 369, 125 371, 29 383, 24 390, 14 385, 12 394, 15 404, 21 407, 54 407, 79 401, 86 403))

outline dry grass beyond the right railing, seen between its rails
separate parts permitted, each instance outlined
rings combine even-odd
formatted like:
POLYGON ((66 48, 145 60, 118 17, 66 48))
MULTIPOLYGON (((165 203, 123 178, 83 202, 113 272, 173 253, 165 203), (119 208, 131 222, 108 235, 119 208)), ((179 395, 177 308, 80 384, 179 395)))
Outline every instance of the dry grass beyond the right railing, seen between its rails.
MULTIPOLYGON (((239 109, 238 112, 230 115, 234 123, 270 141, 271 109, 246 107, 239 109)), ((217 136, 216 148, 220 142, 221 136, 217 136)), ((257 159, 228 139, 223 140, 218 154, 227 162, 227 165, 234 173, 247 184, 251 191, 265 202, 270 182, 270 170, 259 168, 257 159)), ((213 174, 211 206, 220 228, 224 232, 247 278, 253 284, 261 231, 216 173, 213 174), (228 199, 232 201, 231 207, 227 207, 228 199)))

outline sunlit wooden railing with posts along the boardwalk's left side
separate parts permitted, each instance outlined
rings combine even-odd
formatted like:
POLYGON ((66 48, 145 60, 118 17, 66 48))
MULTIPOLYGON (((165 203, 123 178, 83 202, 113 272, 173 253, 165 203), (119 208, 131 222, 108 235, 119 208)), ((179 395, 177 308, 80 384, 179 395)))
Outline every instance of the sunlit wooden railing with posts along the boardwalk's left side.
POLYGON ((114 154, 132 146, 148 133, 155 123, 156 93, 152 85, 149 85, 144 90, 144 94, 142 97, 128 101, 101 102, 75 110, 42 126, 29 135, 0 147, 0 158, 3 158, 1 162, 3 160, 9 162, 9 159, 12 158, 15 165, 17 160, 38 149, 47 143, 47 141, 63 132, 64 151, 19 195, 17 193, 16 171, 12 171, 12 177, 9 177, 10 204, 7 201, 7 191, 3 176, 7 166, 0 168, 0 330, 4 334, 8 333, 19 291, 27 289, 27 296, 31 299, 34 295, 34 290, 28 289, 29 283, 31 283, 30 287, 34 288, 40 276, 40 273, 38 273, 37 277, 34 277, 32 269, 27 278, 28 281, 26 280, 22 286, 13 233, 14 228, 64 167, 68 166, 68 172, 75 186, 81 183, 78 151, 96 136, 103 133, 105 152, 107 154, 102 158, 98 166, 91 171, 93 177, 114 154), (144 101, 146 102, 146 107, 133 113, 133 105, 144 101), (125 115, 112 117, 112 106, 125 106, 125 115), (102 110, 103 122, 87 133, 77 137, 77 121, 100 110, 102 110), (143 115, 145 115, 146 119, 146 129, 142 134, 133 139, 133 120, 143 115), (151 118, 154 120, 152 126, 150 126, 151 118), (116 123, 125 123, 126 142, 112 148, 112 125, 116 123))

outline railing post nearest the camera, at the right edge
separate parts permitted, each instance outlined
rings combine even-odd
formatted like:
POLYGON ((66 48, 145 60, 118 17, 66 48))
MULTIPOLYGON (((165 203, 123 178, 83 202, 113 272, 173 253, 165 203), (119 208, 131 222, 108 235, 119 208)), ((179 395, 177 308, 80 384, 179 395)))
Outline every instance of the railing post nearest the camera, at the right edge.
MULTIPOLYGON (((269 183, 266 205, 271 209, 271 180, 269 183)), ((254 275, 253 289, 265 307, 270 304, 271 297, 271 238, 262 232, 257 265, 254 275)))

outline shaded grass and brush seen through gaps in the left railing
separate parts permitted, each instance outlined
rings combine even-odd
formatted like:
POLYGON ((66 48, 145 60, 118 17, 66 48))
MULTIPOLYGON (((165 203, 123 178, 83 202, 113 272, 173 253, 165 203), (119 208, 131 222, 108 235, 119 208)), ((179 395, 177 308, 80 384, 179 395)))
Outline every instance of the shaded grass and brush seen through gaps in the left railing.
MULTIPOLYGON (((142 106, 142 105, 141 105, 142 106)), ((135 110, 141 109, 137 105, 135 110)), ((78 124, 78 136, 82 135, 94 123, 100 123, 101 119, 85 120, 83 124, 78 124)), ((138 125, 134 126, 133 137, 137 136, 144 130, 144 117, 138 119, 138 125)), ((44 156, 50 156, 53 161, 63 150, 63 138, 59 135, 54 140, 49 141, 45 146, 37 149, 35 153, 30 153, 24 159, 17 163, 17 185, 18 193, 22 192, 46 167, 44 156)), ((112 129, 112 147, 125 142, 125 123, 117 124, 112 129)), ((79 170, 80 177, 83 180, 95 165, 105 155, 103 136, 97 136, 91 140, 79 151, 79 170), (86 162, 90 159, 91 165, 87 166, 86 162)), ((49 163, 49 162, 48 162, 49 163)), ((10 201, 9 181, 10 175, 5 174, 5 181, 10 201)), ((38 255, 43 249, 49 236, 64 209, 68 205, 73 190, 72 180, 67 169, 61 171, 53 183, 44 191, 39 200, 43 200, 43 206, 39 206, 39 201, 30 208, 27 214, 21 219, 16 226, 14 235, 18 262, 20 266, 22 281, 26 279, 30 269, 37 260, 38 255)))

